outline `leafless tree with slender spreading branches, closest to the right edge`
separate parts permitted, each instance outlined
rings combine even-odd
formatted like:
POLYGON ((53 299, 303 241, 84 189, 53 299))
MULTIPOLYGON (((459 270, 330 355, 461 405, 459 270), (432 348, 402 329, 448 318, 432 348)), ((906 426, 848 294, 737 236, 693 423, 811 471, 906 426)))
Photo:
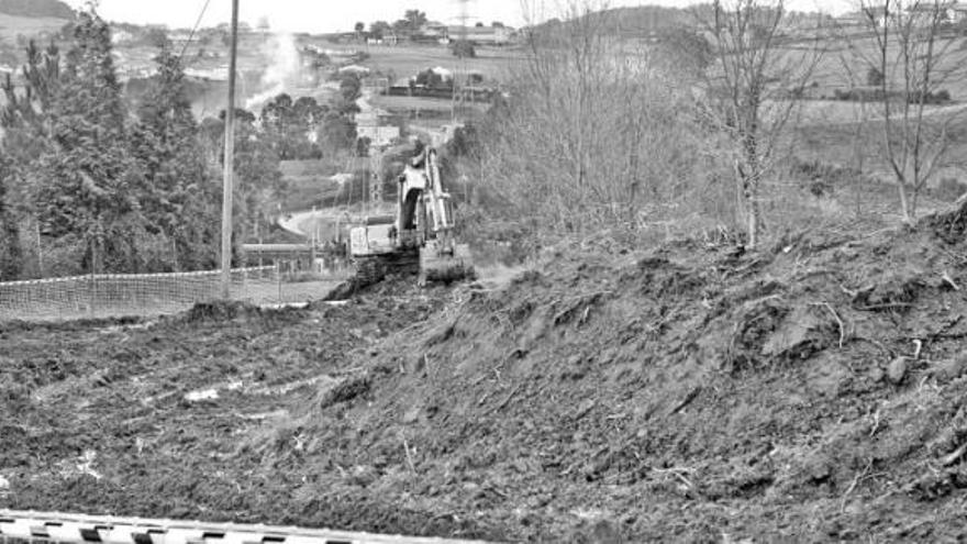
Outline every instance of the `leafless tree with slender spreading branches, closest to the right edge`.
POLYGON ((860 0, 864 37, 849 51, 870 74, 868 92, 878 111, 883 162, 892 174, 903 222, 916 218, 923 189, 936 171, 958 157, 949 154, 952 123, 964 109, 943 107, 945 86, 964 79, 955 58, 959 41, 948 31, 954 0, 860 0))

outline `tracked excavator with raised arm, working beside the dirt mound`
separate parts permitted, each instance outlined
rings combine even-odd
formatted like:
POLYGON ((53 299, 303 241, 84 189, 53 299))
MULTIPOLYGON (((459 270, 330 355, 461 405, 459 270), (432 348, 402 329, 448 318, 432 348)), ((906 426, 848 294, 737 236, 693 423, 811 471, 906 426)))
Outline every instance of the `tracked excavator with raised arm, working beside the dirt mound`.
POLYGON ((454 233, 453 201, 443 188, 436 149, 419 149, 397 181, 396 214, 369 217, 349 230, 356 281, 370 285, 387 274, 415 273, 425 286, 473 277, 469 247, 454 233))

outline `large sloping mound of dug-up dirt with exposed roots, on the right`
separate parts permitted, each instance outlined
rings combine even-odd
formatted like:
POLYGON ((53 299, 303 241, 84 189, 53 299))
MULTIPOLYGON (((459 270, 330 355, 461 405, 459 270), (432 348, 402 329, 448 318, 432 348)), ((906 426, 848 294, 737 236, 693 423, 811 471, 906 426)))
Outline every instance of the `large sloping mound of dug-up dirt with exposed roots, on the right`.
POLYGON ((304 462, 321 493, 510 539, 963 534, 964 247, 924 229, 560 248, 320 393, 300 432, 336 446, 304 462))

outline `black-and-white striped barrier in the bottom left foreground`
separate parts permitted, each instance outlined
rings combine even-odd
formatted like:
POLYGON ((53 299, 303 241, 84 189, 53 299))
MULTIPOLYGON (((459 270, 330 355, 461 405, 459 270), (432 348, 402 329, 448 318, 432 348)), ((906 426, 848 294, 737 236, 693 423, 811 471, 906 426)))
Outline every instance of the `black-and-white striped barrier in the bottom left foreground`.
POLYGON ((467 544, 413 536, 390 536, 326 529, 236 523, 201 523, 144 518, 78 515, 0 510, 0 544, 467 544))

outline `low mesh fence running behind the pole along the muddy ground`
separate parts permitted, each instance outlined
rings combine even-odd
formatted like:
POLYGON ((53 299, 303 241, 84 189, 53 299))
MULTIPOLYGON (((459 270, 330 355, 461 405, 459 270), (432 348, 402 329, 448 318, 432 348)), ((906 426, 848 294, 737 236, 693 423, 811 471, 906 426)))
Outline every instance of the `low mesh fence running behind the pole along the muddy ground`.
MULTIPOLYGON (((289 281, 276 266, 233 269, 230 298, 254 304, 324 297, 342 274, 289 281)), ((222 296, 221 270, 110 274, 0 282, 0 321, 157 315, 222 296)))

